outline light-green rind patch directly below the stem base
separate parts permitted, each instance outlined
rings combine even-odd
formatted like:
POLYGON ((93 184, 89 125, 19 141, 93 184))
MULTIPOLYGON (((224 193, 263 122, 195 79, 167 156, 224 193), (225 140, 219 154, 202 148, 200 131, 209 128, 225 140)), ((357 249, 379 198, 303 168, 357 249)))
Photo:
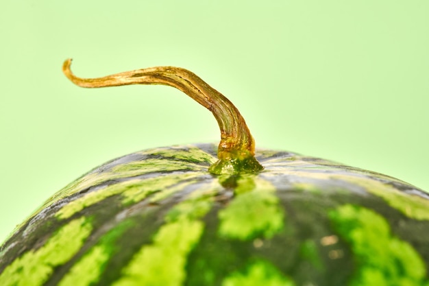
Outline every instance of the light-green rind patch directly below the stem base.
POLYGON ((249 240, 269 239, 283 229, 284 212, 275 188, 258 178, 238 180, 238 194, 219 211, 219 235, 225 238, 249 240))

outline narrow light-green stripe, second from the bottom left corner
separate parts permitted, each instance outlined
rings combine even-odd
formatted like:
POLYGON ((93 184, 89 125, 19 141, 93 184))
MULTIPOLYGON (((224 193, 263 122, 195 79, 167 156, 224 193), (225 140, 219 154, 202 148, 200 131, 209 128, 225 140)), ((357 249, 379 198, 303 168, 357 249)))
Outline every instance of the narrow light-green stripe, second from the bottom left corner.
POLYGON ((101 237, 99 243, 90 248, 84 256, 71 267, 62 278, 59 286, 87 286, 97 283, 104 271, 107 261, 114 257, 117 249, 116 241, 123 232, 134 226, 130 221, 121 222, 101 237))

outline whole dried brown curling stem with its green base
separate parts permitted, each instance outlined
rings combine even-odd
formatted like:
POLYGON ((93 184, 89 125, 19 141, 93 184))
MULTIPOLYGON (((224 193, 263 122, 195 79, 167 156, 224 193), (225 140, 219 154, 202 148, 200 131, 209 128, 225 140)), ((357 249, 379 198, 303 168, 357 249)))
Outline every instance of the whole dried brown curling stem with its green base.
POLYGON ((78 78, 65 60, 62 71, 77 86, 97 88, 130 84, 163 84, 186 93, 215 116, 221 130, 219 160, 210 166, 213 174, 254 173, 263 169, 254 158, 254 139, 238 109, 197 75, 178 67, 151 67, 115 73, 102 78, 78 78))

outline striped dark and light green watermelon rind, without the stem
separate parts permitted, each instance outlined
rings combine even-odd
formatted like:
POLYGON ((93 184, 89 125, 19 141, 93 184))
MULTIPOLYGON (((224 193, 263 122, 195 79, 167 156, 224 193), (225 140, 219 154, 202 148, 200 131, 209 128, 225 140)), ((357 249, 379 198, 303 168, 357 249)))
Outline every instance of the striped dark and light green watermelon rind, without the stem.
POLYGON ((0 285, 426 285, 429 195, 382 174, 212 144, 136 152, 53 195, 0 248, 0 285))

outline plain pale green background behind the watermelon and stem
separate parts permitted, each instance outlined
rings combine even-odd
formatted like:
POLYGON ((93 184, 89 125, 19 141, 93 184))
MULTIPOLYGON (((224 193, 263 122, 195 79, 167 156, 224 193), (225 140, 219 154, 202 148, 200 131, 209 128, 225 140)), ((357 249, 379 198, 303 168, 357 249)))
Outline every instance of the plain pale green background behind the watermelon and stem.
POLYGON ((150 147, 219 141, 166 86, 84 89, 157 65, 197 73, 257 147, 429 190, 429 1, 12 1, 0 10, 0 241, 84 172, 150 147))

